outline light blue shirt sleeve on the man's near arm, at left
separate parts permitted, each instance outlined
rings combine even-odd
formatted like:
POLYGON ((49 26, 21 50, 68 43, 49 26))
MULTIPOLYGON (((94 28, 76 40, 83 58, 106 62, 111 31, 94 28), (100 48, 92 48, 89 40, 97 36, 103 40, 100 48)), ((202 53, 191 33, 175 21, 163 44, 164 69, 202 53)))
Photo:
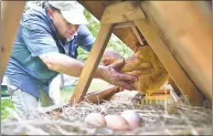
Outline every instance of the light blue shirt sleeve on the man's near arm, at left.
POLYGON ((22 38, 32 56, 39 56, 50 52, 58 52, 52 34, 40 25, 33 30, 23 27, 22 38))

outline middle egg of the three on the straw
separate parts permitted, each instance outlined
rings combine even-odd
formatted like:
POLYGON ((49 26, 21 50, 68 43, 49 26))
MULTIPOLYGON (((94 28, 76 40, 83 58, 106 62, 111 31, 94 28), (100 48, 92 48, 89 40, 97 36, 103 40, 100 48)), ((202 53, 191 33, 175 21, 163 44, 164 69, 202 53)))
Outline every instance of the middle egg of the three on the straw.
POLYGON ((128 130, 129 124, 120 115, 106 115, 106 125, 113 130, 128 130))

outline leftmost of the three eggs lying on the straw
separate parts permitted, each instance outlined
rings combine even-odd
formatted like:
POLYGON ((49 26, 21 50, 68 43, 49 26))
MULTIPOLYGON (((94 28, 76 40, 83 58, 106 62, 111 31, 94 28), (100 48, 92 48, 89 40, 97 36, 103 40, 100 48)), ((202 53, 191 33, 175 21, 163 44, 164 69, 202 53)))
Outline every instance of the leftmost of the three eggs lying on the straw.
POLYGON ((85 117, 85 124, 88 127, 106 126, 105 117, 100 113, 90 113, 85 117))

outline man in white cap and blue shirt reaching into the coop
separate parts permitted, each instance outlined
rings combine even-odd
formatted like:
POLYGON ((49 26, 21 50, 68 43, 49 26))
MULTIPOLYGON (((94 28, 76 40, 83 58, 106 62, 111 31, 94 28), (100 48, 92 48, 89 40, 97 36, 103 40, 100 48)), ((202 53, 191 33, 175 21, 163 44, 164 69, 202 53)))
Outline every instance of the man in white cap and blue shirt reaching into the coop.
MULTIPOLYGON (((95 41, 83 25, 86 23, 76 1, 49 1, 44 9, 23 13, 6 70, 9 93, 21 117, 28 118, 39 106, 39 101, 42 106, 53 104, 50 103, 49 86, 58 73, 81 75, 84 63, 74 60, 77 45, 89 51, 95 41)), ((131 83, 136 77, 117 72, 123 65, 124 61, 98 66, 94 77, 134 90, 131 83)))

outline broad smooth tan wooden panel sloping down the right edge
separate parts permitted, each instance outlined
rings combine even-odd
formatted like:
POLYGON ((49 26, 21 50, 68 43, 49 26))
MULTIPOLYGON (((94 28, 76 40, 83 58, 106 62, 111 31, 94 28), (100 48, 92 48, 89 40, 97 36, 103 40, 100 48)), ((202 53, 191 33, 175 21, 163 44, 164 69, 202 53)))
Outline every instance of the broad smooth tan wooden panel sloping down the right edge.
POLYGON ((141 9, 192 82, 212 101, 212 10, 207 1, 143 1, 141 9))

